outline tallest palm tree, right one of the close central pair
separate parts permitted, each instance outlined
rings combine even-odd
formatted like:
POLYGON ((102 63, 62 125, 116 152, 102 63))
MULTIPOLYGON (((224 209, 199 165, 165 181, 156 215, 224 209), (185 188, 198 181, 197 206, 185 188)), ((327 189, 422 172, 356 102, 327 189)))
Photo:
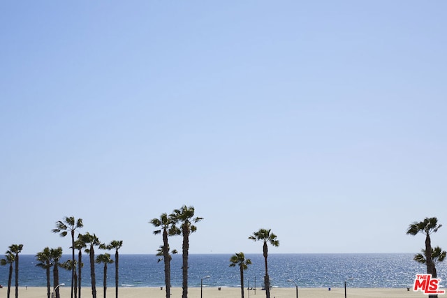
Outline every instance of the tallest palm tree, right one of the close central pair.
POLYGON ((175 209, 173 214, 170 214, 170 220, 173 221, 172 234, 181 234, 183 236, 182 244, 182 298, 188 297, 188 251, 189 251, 189 234, 196 232, 197 227, 193 223, 198 223, 203 218, 194 216, 194 207, 182 206, 180 209, 175 209), (177 227, 179 223, 179 227, 177 227))

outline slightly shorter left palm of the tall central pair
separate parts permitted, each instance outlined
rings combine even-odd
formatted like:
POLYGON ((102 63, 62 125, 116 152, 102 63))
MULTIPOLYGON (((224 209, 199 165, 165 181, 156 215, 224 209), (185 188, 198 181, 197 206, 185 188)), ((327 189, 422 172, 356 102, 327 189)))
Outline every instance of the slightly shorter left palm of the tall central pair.
POLYGON ((168 230, 170 230, 170 227, 173 225, 173 221, 168 214, 163 213, 161 214, 160 218, 153 218, 149 223, 152 223, 152 225, 156 228, 161 228, 159 230, 154 230, 154 234, 160 234, 163 230, 163 245, 160 246, 161 251, 159 251, 157 255, 163 255, 163 260, 165 263, 166 298, 170 298, 170 260, 172 257, 169 253, 168 230))

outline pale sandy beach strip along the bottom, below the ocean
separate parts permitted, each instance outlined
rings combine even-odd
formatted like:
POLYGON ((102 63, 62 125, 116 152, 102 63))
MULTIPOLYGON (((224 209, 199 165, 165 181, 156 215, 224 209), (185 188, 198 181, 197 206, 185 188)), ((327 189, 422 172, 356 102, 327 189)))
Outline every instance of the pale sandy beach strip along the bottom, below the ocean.
MULTIPOLYGON (((6 297, 6 288, 0 289, 0 295, 6 297)), ((60 289, 61 298, 70 297, 70 288, 64 287, 60 289)), ((182 297, 182 288, 172 288, 171 294, 173 298, 182 297)), ((14 288, 11 288, 11 297, 14 296, 14 288)), ((203 288, 203 298, 239 298, 240 288, 203 288)), ((274 298, 295 298, 295 288, 273 288, 270 292, 270 296, 274 298)), ((46 288, 34 288, 34 287, 20 287, 20 298, 45 298, 47 297, 46 288)), ((82 288, 82 297, 91 297, 90 288, 82 288)), ((103 288, 96 288, 96 297, 103 297, 103 288)), ((115 288, 110 287, 107 290, 107 297, 115 298, 115 288)), ((120 298, 164 298, 166 292, 160 290, 160 288, 119 288, 120 298)), ((199 298, 200 288, 189 288, 188 297, 199 298)), ((250 290, 247 289, 244 292, 244 298, 248 297, 265 297, 263 290, 250 290)), ((328 288, 299 288, 298 297, 300 298, 335 298, 344 297, 344 288, 332 288, 330 291, 328 288)), ((369 297, 381 297, 381 298, 399 298, 399 297, 427 297, 422 292, 413 292, 413 290, 406 290, 406 288, 348 288, 347 297, 352 298, 369 298, 369 297)), ((439 297, 442 297, 440 295, 439 297)))

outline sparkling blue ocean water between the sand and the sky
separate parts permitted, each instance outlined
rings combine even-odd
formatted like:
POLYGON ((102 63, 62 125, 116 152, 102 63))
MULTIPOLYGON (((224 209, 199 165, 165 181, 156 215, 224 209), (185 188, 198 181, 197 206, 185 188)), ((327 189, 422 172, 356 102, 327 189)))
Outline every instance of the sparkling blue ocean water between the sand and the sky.
MULTIPOLYGON (((231 254, 189 255, 189 287, 240 287, 240 270, 229 267, 231 254)), ((64 260, 70 259, 64 255, 64 260)), ((244 271, 244 286, 262 288, 265 272, 262 254, 247 254, 252 265, 244 271)), ((119 285, 123 287, 164 286, 164 265, 155 255, 119 255, 119 285)), ((82 286, 90 286, 90 268, 87 255, 82 268, 82 286)), ((34 255, 20 255, 20 286, 46 286, 45 270, 36 267, 34 255)), ((347 278, 351 288, 406 288, 413 284, 416 274, 425 273, 425 267, 413 261, 410 253, 379 254, 271 254, 268 271, 273 287, 295 287, 293 279, 303 288, 337 288, 347 278)), ((447 268, 437 265, 438 277, 446 280, 447 268)), ((103 265, 95 265, 96 287, 103 286, 103 265)), ((71 271, 59 270, 59 281, 70 285, 71 271)), ((108 287, 115 286, 115 264, 108 265, 108 287)), ((441 285, 443 283, 441 281, 441 285)), ((8 266, 0 267, 0 284, 8 283, 8 266)), ((173 255, 171 284, 182 287, 182 255, 173 255)), ((13 278, 14 285, 14 278, 13 278)))

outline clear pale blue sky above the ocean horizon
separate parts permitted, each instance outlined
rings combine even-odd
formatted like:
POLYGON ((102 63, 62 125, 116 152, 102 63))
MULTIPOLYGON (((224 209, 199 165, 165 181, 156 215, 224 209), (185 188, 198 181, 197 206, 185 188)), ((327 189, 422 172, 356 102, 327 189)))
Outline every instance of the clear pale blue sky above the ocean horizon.
MULTIPOLYGON (((0 251, 418 253, 447 224, 447 2, 1 1, 0 251), (182 249, 180 237, 171 248, 182 249)), ((447 248, 447 226, 432 244, 447 248)))

